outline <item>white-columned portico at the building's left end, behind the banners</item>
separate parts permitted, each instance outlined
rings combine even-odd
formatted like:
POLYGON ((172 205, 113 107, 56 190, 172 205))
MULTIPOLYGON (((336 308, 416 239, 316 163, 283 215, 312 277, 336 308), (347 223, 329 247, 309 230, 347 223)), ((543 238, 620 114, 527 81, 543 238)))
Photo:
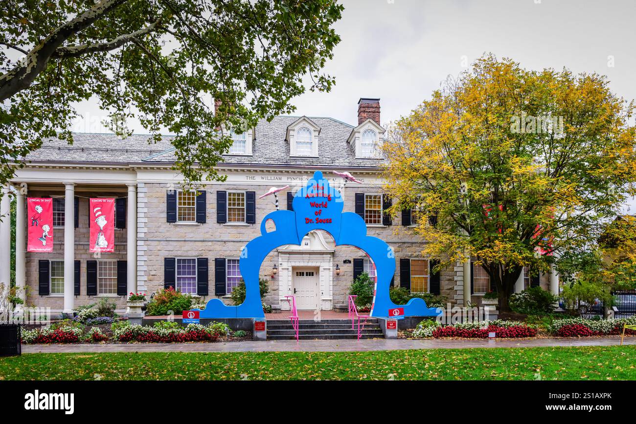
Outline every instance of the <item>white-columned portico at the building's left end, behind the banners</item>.
MULTIPOLYGON (((53 314, 72 314, 79 304, 95 303, 98 300, 96 298, 109 297, 116 302, 118 311, 125 311, 125 294, 137 291, 136 173, 130 173, 130 169, 127 173, 109 173, 108 180, 111 182, 106 183, 95 171, 86 167, 67 168, 64 171, 26 167, 18 170, 11 180, 11 196, 16 200, 15 283, 17 294, 25 300, 25 304, 51 307, 53 314), (27 252, 27 197, 53 198, 51 253, 27 252), (117 220, 119 225, 115 230, 113 253, 89 252, 90 197, 114 197, 121 199, 125 205, 125 219, 120 217, 117 220), (97 264, 100 272, 90 276, 90 264, 93 263, 97 264), (120 272, 121 265, 125 266, 124 276, 120 272), (125 278, 125 293, 113 290, 120 278, 125 278), (96 292, 92 292, 92 287, 89 288, 93 282, 96 283, 96 292)), ((9 196, 4 196, 2 213, 9 206, 9 196)), ((10 228, 10 224, 8 220, 4 221, 0 230, 0 269, 3 274, 4 270, 8 274, 11 268, 11 240, 6 237, 8 232, 4 231, 4 225, 10 228)), ((0 277, 4 278, 4 275, 0 277)))

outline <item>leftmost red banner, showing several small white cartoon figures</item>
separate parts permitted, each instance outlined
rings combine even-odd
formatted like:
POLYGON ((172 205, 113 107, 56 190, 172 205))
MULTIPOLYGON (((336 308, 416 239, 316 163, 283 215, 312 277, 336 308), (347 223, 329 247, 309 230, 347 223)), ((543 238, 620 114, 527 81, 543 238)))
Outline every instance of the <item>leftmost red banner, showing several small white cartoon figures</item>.
POLYGON ((53 251, 53 199, 27 197, 29 231, 27 251, 53 251))

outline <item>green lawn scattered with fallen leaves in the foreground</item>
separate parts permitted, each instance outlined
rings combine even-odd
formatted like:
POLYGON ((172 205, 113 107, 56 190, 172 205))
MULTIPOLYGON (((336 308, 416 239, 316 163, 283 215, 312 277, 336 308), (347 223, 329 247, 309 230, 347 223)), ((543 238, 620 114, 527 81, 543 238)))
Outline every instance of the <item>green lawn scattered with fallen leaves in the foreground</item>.
POLYGON ((636 379, 636 346, 371 352, 30 353, 0 379, 636 379))

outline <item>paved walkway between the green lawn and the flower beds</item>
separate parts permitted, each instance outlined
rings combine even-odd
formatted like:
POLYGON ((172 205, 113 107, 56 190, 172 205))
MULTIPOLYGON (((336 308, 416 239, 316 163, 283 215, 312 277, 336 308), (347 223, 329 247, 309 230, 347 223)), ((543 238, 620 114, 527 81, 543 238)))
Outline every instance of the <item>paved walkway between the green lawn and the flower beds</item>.
MULTIPOLYGON (((619 336, 583 339, 500 339, 500 340, 270 340, 232 343, 121 343, 121 344, 25 344, 22 353, 99 353, 99 352, 272 352, 272 351, 374 351, 404 349, 529 348, 534 346, 615 346, 619 336)), ((636 346, 636 337, 625 343, 636 346)))

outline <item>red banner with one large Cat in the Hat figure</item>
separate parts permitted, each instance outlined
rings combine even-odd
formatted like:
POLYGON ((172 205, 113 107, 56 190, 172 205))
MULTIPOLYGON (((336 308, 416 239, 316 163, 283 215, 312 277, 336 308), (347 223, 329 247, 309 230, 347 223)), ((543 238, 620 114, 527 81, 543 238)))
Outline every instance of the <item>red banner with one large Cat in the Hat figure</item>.
POLYGON ((115 199, 88 202, 90 214, 90 251, 115 251, 115 199))

